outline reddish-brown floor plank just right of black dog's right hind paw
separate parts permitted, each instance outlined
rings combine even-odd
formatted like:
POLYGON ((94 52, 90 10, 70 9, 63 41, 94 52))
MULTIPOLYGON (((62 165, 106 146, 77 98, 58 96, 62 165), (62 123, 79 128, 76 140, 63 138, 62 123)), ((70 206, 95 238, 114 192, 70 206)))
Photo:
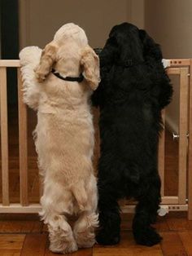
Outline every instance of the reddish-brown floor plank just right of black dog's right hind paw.
POLYGON ((161 235, 163 236, 163 241, 160 245, 164 255, 187 256, 185 247, 177 232, 161 232, 161 235))

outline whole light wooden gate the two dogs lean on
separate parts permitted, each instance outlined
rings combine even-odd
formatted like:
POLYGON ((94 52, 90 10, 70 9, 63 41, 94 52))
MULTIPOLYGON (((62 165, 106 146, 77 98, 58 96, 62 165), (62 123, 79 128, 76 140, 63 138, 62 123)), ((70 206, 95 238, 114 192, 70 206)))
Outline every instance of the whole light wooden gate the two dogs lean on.
MULTIPOLYGON (((181 102, 189 99, 189 108, 186 104, 180 104, 180 109, 185 108, 185 115, 180 118, 180 143, 179 170, 183 168, 184 174, 179 171, 178 196, 164 196, 164 131, 159 140, 159 174, 162 179, 162 204, 159 215, 164 215, 168 211, 188 210, 188 218, 192 219, 192 59, 172 59, 167 60, 169 65, 168 74, 179 74, 180 86, 185 88, 181 94, 181 102), (189 91, 189 95, 188 95, 189 91), (187 114, 188 113, 188 114, 187 114), (188 120, 188 124, 187 124, 188 120), (187 150, 187 139, 185 131, 189 133, 189 143, 187 150), (182 148, 185 148, 184 152, 182 148), (188 152, 188 161, 187 161, 188 152), (187 175, 188 170, 188 175, 187 175), (188 188, 188 195, 186 192, 188 188), (188 198, 188 201, 187 201, 188 198)), ((1 143, 2 143, 2 204, 1 213, 28 213, 37 214, 41 210, 40 204, 29 204, 28 202, 28 136, 27 136, 27 106, 23 103, 22 82, 20 75, 20 60, 0 60, 0 100, 1 100, 1 143), (18 112, 19 112, 19 147, 20 147, 20 203, 10 204, 9 201, 9 163, 8 163, 8 124, 7 124, 7 67, 17 68, 18 82, 18 112)), ((162 113, 164 119, 164 112, 162 113)), ((41 189, 40 189, 41 191, 41 189)), ((133 204, 124 201, 121 209, 124 213, 133 212, 133 204)))

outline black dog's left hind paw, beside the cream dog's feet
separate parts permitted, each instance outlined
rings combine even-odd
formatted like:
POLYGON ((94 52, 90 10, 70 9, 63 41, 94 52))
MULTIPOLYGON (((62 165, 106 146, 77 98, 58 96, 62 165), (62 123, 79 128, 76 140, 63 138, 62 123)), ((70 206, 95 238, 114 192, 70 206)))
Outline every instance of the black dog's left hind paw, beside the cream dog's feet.
POLYGON ((116 245, 120 242, 120 234, 109 234, 101 230, 96 236, 96 241, 100 245, 116 245))

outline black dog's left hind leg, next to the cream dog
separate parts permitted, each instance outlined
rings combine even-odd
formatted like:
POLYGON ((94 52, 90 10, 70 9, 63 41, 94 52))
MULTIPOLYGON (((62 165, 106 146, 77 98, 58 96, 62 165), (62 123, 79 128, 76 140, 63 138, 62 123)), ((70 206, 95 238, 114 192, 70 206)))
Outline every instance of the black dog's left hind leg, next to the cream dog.
POLYGON ((120 241, 120 207, 113 196, 114 188, 98 183, 99 230, 96 240, 102 245, 116 245, 120 241))

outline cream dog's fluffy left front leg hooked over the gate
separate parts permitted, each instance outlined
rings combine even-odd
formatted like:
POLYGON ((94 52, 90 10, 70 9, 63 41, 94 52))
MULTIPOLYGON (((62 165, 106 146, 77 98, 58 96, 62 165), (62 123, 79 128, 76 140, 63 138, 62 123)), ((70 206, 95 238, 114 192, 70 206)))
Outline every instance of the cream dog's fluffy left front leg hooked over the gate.
POLYGON ((30 108, 37 110, 40 85, 34 69, 39 64, 41 58, 41 49, 37 46, 28 46, 20 51, 20 65, 24 88, 24 103, 28 104, 30 108))

